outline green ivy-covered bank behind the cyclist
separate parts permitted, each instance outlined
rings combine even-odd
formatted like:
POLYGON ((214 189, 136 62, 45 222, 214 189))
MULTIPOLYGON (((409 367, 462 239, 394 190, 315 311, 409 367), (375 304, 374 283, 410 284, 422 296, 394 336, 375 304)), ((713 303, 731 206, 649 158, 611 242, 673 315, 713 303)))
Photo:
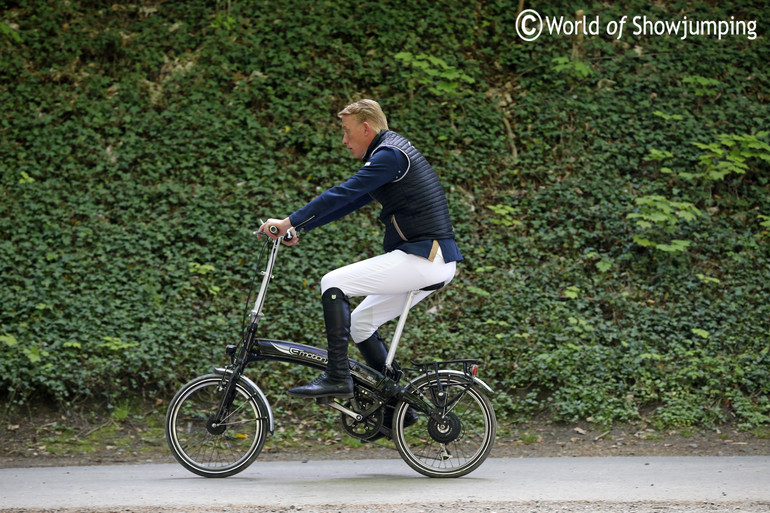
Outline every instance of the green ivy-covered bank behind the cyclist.
MULTIPOLYGON (((167 398, 221 364, 258 219, 355 172, 335 113, 371 97, 441 175, 466 258, 402 360, 481 358, 503 421, 766 424, 766 2, 524 8, 602 32, 524 41, 518 1, 4 2, 5 400, 167 398)), ((281 253, 264 336, 324 344, 318 282, 377 254, 374 210, 281 253)), ((252 374, 278 409, 308 376, 252 374)))

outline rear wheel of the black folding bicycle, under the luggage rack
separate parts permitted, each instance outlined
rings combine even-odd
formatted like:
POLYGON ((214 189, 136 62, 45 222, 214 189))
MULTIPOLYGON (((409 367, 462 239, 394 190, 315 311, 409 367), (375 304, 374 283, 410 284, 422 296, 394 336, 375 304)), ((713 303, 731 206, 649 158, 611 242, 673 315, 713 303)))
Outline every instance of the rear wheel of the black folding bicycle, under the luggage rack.
POLYGON ((439 381, 435 376, 417 379, 414 387, 441 413, 441 420, 420 413, 420 420, 405 428, 409 404, 401 401, 393 415, 393 441, 401 458, 417 472, 460 477, 489 456, 497 419, 492 403, 477 385, 468 387, 467 379, 450 374, 439 373, 438 379, 447 394, 445 403, 436 401, 439 381))

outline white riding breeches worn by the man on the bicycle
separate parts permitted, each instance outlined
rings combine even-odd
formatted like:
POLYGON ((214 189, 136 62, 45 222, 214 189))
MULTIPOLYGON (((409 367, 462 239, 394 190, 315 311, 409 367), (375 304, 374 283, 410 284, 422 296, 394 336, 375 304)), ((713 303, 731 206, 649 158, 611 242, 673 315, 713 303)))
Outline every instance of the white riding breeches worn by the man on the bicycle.
MULTIPOLYGON (((448 284, 456 268, 456 262, 444 262, 441 250, 432 262, 395 250, 329 272, 321 279, 321 294, 337 287, 347 297, 366 296, 350 314, 350 336, 358 344, 401 314, 409 292, 440 282, 448 284)), ((411 306, 431 292, 415 294, 411 306)))

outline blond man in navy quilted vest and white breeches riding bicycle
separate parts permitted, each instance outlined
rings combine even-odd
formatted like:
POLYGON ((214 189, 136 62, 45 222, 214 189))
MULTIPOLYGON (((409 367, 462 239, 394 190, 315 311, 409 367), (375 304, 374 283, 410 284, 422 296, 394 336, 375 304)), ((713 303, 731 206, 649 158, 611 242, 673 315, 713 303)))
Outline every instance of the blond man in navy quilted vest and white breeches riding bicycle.
MULTIPOLYGON (((354 102, 338 116, 344 131, 342 144, 362 159, 363 166, 288 217, 268 219, 260 231, 272 238, 292 228, 310 231, 375 199, 382 204, 384 253, 335 269, 321 279, 329 361, 321 376, 289 390, 301 397, 353 396, 349 337, 366 364, 382 372, 388 348, 377 329, 401 313, 410 291, 449 283, 462 260, 444 190, 425 157, 406 138, 388 130, 385 114, 373 100, 354 102), (275 233, 271 226, 277 228, 275 233), (348 298, 359 296, 366 297, 351 314, 348 298)), ((298 241, 293 237, 284 243, 298 241)), ((431 292, 421 290, 412 306, 431 292)))

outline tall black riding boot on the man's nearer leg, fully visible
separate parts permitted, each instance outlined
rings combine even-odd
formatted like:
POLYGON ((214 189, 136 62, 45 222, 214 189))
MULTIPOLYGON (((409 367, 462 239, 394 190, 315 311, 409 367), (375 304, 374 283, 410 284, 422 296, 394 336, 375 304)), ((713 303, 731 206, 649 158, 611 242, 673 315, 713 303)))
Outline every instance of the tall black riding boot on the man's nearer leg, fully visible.
POLYGON ((311 383, 289 389, 301 397, 353 397, 353 378, 348 364, 350 303, 345 294, 333 287, 321 296, 326 322, 329 361, 326 371, 311 383))

